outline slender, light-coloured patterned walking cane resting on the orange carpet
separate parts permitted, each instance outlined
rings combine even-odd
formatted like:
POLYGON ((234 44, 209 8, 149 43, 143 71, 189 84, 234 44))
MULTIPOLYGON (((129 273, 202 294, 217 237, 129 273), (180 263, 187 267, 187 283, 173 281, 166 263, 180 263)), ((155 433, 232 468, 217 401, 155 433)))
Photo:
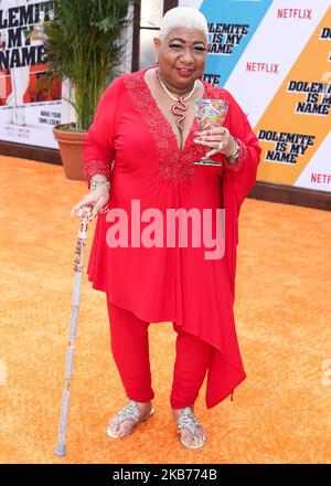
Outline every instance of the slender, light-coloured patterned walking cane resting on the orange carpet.
POLYGON ((65 439, 66 439, 66 425, 70 408, 70 382, 73 373, 74 353, 75 353, 75 338, 77 334, 77 324, 79 316, 79 303, 81 303, 81 288, 82 277, 84 268, 84 257, 86 251, 87 239, 87 225, 90 219, 90 208, 83 208, 77 212, 81 218, 81 228, 77 236, 77 244, 75 250, 75 265, 74 265, 74 286, 73 286, 73 299, 72 299, 72 314, 70 320, 68 344, 66 350, 66 364, 64 374, 64 389, 62 395, 62 406, 60 415, 58 435, 55 448, 55 454, 58 456, 65 455, 65 439), (84 215, 84 212, 86 214, 84 215))

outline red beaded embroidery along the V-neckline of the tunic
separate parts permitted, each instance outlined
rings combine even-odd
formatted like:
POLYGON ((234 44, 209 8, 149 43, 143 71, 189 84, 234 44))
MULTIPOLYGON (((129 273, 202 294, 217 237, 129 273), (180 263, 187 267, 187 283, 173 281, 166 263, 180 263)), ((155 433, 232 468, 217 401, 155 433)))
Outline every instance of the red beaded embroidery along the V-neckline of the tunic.
MULTIPOLYGON (((158 107, 145 81, 146 71, 141 70, 124 76, 124 84, 157 146, 160 177, 174 182, 190 180, 194 176, 194 161, 200 160, 205 155, 205 148, 193 141, 193 134, 199 131, 199 125, 194 119, 184 147, 181 149, 178 146, 177 136, 171 125, 158 107)), ((214 88, 207 84, 204 84, 204 88, 203 98, 220 97, 220 88, 214 88)))

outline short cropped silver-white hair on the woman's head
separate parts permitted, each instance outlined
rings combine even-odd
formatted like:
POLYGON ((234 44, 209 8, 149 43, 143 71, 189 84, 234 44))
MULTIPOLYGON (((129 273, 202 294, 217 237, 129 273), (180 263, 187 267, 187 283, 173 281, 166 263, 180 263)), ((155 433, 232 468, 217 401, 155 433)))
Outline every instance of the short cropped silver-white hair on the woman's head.
POLYGON ((204 33, 206 41, 209 40, 209 24, 200 10, 193 7, 175 7, 168 10, 161 21, 159 39, 162 41, 167 35, 179 27, 196 29, 204 33))

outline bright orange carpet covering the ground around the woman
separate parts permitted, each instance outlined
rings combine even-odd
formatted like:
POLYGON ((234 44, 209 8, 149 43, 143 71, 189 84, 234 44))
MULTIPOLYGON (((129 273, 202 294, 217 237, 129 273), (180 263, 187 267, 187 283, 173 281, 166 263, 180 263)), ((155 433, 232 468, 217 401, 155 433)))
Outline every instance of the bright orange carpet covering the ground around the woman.
POLYGON ((247 379, 233 402, 209 411, 204 383, 196 414, 209 442, 201 451, 179 443, 170 411, 170 323, 150 326, 154 416, 124 440, 107 437, 107 420, 126 397, 110 356, 105 295, 84 275, 67 455, 58 458, 78 230, 70 210, 86 183, 65 179, 60 166, 8 157, 0 165, 1 463, 330 463, 329 212, 245 201, 235 314, 247 379))

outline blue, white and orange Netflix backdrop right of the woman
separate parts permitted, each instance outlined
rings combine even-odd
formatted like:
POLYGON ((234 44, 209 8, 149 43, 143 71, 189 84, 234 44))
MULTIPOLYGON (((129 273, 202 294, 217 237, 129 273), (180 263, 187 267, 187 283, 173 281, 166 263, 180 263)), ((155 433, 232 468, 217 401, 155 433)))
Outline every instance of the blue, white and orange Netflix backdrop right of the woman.
POLYGON ((258 180, 331 191, 330 0, 180 0, 209 21, 205 81, 263 147, 258 180))

